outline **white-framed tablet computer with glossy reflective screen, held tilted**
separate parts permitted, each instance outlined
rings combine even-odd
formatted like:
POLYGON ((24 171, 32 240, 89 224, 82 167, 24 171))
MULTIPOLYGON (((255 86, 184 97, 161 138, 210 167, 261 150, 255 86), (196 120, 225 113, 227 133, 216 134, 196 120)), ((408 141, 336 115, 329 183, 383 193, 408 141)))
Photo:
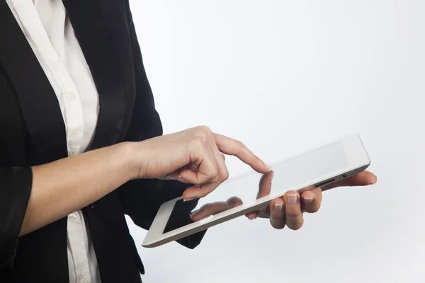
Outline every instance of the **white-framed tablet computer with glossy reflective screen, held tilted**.
POLYGON ((196 207, 189 205, 192 201, 184 202, 181 197, 162 204, 142 246, 153 248, 179 240, 266 207, 271 200, 283 196, 288 190, 303 192, 323 187, 356 175, 369 165, 370 159, 361 138, 353 134, 274 164, 272 176, 269 175, 271 173, 251 171, 229 178, 209 195, 199 199, 196 207), (220 207, 218 211, 217 207, 220 207), (198 209, 213 212, 199 221, 191 220, 190 214, 198 209), (182 217, 186 218, 185 221, 181 221, 182 217))

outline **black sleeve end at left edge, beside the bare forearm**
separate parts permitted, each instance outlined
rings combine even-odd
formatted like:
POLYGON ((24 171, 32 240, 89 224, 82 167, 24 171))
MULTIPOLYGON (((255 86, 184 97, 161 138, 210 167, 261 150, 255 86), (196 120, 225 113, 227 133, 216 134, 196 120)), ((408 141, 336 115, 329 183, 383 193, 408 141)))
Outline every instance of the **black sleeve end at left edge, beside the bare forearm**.
POLYGON ((0 274, 12 267, 32 184, 31 168, 0 167, 0 274))

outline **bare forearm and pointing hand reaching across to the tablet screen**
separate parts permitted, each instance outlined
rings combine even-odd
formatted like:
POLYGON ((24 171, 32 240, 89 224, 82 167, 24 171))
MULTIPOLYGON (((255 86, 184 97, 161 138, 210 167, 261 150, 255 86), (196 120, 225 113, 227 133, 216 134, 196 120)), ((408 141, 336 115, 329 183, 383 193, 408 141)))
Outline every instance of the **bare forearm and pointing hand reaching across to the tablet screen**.
POLYGON ((261 173, 271 171, 242 143, 214 134, 208 127, 106 146, 33 166, 20 235, 96 202, 132 178, 168 177, 194 184, 183 192, 185 200, 208 195, 228 176, 222 154, 237 156, 261 173))

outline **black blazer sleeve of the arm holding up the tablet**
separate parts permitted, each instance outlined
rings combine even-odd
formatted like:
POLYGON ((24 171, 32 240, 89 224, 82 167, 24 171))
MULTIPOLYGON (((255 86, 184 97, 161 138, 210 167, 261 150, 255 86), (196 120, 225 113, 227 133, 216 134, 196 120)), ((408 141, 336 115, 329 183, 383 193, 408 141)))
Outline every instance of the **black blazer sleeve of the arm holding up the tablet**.
MULTIPOLYGON (((126 0, 126 9, 135 66, 136 98, 125 141, 142 141, 162 135, 162 123, 157 110, 155 110, 154 97, 143 66, 142 53, 140 52, 128 0, 126 0)), ((120 187, 117 193, 125 214, 128 214, 137 226, 149 229, 159 207, 168 200, 180 197, 187 187, 187 184, 172 180, 131 180, 120 187)), ((187 210, 191 211, 196 207, 196 204, 197 200, 193 200, 185 205, 187 205, 187 210)), ((184 210, 186 211, 186 209, 184 210)), ((188 214, 177 218, 180 219, 181 223, 175 223, 176 226, 191 221, 188 214)), ((204 234, 205 231, 202 231, 177 242, 188 248, 195 248, 204 234)))

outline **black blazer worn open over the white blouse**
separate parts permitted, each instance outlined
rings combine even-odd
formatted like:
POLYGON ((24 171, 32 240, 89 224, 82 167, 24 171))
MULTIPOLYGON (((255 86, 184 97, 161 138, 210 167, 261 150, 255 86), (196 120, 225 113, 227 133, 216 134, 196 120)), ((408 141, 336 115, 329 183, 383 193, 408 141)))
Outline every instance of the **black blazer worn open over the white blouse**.
MULTIPOLYGON (((99 93, 92 149, 161 135, 128 0, 63 2, 99 93)), ((67 219, 18 238, 32 185, 30 166, 67 157, 67 143, 55 92, 5 0, 0 0, 0 135, 0 282, 69 282, 67 219)), ((149 229, 159 205, 186 187, 132 180, 83 209, 103 283, 141 282, 144 268, 125 214, 149 229)), ((196 202, 187 205, 191 209, 196 202)), ((179 243, 194 248, 203 234, 179 243)))

